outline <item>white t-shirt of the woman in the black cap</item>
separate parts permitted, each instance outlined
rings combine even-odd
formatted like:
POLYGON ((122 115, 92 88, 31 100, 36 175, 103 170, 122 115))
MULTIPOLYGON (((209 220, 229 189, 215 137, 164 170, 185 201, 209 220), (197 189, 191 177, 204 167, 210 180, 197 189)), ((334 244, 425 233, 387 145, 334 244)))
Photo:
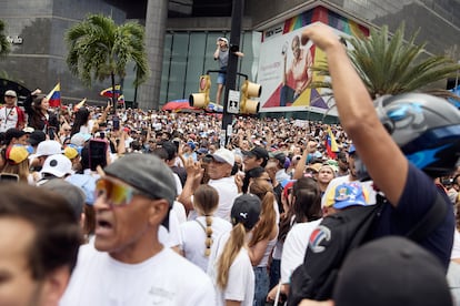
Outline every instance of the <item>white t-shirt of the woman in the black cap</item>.
POLYGON ((209 256, 208 275, 211 277, 217 292, 217 303, 213 305, 224 306, 228 299, 239 300, 241 306, 252 306, 256 280, 247 248, 242 247, 231 264, 226 289, 221 290, 217 286, 217 263, 229 237, 230 233, 221 235, 212 244, 211 256, 209 256))

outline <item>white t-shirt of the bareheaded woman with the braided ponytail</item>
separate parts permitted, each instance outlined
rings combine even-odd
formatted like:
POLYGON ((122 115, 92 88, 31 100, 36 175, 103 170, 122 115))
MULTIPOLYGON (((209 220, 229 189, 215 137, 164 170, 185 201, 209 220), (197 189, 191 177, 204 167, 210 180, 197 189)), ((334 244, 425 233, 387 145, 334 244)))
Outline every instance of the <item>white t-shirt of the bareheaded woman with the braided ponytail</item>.
MULTIPOLYGON (((220 217, 212 217, 212 241, 216 242, 217 238, 223 233, 231 231, 232 226, 230 222, 224 221, 220 217)), ((209 256, 204 256, 207 238, 206 234, 206 217, 199 216, 193 221, 188 221, 180 225, 181 235, 182 235, 182 246, 181 249, 184 252, 187 259, 201 267, 202 271, 208 268, 209 256), (200 225, 201 224, 201 225, 200 225)), ((211 245, 212 247, 212 245, 211 245)))

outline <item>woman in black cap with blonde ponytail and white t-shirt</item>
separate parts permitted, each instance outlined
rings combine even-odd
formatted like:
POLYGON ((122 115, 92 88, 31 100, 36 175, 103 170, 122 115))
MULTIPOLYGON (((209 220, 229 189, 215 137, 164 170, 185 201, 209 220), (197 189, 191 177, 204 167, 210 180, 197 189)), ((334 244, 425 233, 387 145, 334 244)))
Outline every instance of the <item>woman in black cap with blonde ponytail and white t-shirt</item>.
POLYGON ((208 274, 217 290, 217 305, 252 306, 254 273, 247 241, 259 221, 261 201, 253 194, 237 197, 231 208, 233 228, 214 242, 208 274))

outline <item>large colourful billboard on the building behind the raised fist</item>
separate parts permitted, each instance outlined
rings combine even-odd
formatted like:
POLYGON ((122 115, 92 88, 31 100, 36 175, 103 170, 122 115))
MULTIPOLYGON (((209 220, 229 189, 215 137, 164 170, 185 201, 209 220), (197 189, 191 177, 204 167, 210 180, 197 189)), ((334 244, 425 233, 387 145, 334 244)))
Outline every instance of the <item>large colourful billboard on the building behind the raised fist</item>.
POLYGON ((262 85, 260 112, 312 111, 334 115, 334 104, 330 91, 309 89, 309 84, 321 81, 311 71, 326 60, 324 53, 311 41, 301 40, 302 31, 316 23, 323 22, 340 35, 352 33, 369 34, 369 30, 323 7, 317 7, 262 33, 260 47, 258 83, 262 85))

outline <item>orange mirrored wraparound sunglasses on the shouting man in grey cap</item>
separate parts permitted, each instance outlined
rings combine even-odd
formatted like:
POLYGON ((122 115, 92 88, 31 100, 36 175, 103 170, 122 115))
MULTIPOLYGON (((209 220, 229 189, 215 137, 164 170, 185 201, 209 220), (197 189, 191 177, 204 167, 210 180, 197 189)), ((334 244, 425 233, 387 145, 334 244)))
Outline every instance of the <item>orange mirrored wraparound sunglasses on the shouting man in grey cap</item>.
MULTIPOLYGON (((106 196, 112 206, 124 206, 131 203, 134 195, 148 196, 141 191, 119 183, 109 178, 99 178, 96 182, 96 197, 106 196)), ((148 196, 150 197, 150 196, 148 196)))

